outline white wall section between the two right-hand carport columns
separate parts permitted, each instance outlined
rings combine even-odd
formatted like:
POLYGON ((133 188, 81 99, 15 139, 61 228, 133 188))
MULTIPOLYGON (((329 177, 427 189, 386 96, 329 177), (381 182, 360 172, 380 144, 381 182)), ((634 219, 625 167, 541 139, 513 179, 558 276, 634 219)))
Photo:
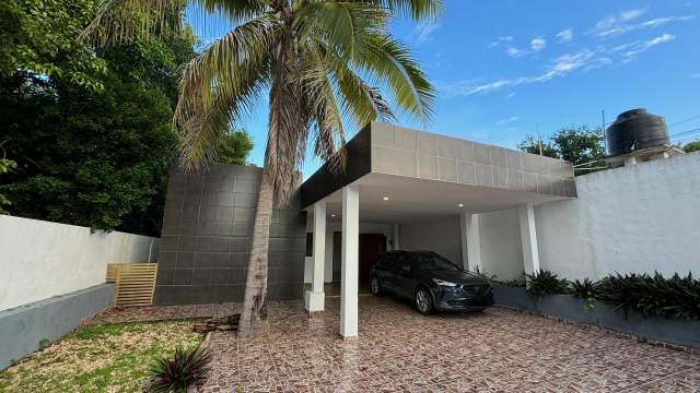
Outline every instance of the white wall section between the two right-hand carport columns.
POLYGON ((523 278, 523 249, 517 210, 479 214, 481 273, 498 279, 523 278))

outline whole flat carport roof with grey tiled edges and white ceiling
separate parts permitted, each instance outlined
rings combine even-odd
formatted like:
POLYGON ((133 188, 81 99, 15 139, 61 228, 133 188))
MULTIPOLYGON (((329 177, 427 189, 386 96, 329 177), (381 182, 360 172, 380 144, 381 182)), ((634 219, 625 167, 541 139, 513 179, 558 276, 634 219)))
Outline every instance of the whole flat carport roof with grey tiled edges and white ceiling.
POLYGON ((472 211, 576 196, 571 163, 505 147, 372 122, 346 148, 345 171, 324 165, 301 186, 302 207, 324 199, 335 203, 337 191, 350 183, 360 184, 368 209, 387 192, 415 207, 456 203, 472 211))

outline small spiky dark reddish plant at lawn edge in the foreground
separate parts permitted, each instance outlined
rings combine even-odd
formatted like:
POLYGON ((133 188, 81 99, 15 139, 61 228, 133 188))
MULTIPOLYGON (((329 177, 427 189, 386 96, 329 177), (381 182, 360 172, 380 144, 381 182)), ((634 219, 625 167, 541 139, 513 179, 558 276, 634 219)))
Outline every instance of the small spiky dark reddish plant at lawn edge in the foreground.
POLYGON ((211 355, 203 347, 176 348, 173 357, 155 360, 151 369, 153 392, 187 392, 187 388, 203 380, 211 355))

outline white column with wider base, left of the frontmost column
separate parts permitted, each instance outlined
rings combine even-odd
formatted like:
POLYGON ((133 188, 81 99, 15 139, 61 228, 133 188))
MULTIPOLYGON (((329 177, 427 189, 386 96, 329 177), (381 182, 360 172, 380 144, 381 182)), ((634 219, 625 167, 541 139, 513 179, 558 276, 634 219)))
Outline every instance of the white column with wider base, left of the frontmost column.
POLYGON ((326 202, 314 204, 314 254, 312 290, 304 294, 304 306, 310 313, 324 311, 324 264, 326 257, 326 202))

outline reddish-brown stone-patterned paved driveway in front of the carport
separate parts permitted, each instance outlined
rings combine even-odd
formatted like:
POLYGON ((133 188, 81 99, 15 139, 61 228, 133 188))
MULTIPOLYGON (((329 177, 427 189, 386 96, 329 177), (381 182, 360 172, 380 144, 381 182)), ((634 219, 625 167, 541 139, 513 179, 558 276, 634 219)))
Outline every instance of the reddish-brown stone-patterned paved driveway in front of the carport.
POLYGON ((698 392, 700 356, 501 308, 423 317, 360 298, 360 337, 342 341, 338 299, 310 319, 270 306, 270 332, 211 336, 206 392, 698 392))

